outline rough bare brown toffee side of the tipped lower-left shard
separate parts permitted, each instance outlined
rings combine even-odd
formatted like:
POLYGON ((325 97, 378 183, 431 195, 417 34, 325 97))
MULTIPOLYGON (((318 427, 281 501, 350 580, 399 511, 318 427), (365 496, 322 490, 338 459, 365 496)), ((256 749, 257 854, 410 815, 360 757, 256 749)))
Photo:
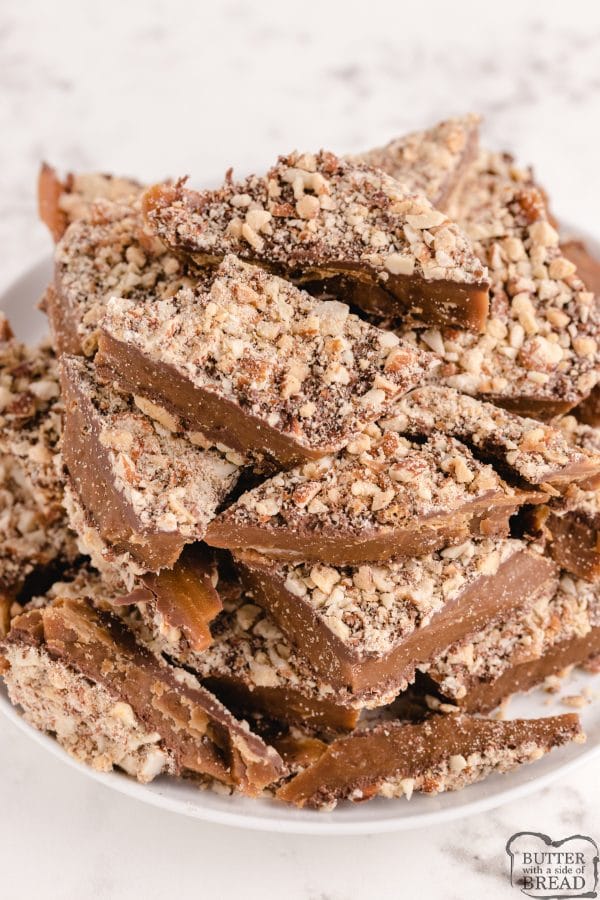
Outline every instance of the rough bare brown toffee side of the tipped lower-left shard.
MULTIPOLYGON (((281 774, 275 751, 237 722, 205 689, 161 664, 110 613, 84 601, 56 601, 17 619, 6 640, 31 646, 128 704, 158 732, 175 771, 210 776, 256 794, 281 774)), ((5 678, 10 682, 10 671, 5 678)), ((126 711, 123 710, 123 715, 126 711)))

